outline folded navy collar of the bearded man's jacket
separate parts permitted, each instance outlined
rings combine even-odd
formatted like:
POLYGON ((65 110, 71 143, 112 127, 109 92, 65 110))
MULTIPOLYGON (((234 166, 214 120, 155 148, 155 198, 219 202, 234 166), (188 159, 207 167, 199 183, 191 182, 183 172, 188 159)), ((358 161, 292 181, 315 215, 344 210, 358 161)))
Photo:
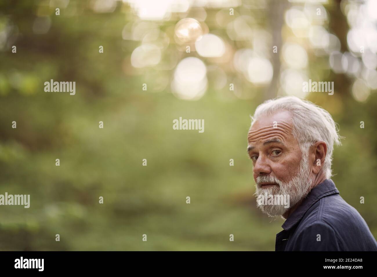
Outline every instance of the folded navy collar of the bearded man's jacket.
POLYGON ((282 228, 285 231, 290 230, 294 225, 296 225, 304 216, 304 214, 316 203, 319 199, 331 195, 331 194, 339 194, 339 190, 335 187, 333 180, 326 179, 316 187, 314 187, 310 193, 305 197, 302 201, 301 205, 293 211, 290 216, 288 216, 287 220, 285 220, 282 228))

